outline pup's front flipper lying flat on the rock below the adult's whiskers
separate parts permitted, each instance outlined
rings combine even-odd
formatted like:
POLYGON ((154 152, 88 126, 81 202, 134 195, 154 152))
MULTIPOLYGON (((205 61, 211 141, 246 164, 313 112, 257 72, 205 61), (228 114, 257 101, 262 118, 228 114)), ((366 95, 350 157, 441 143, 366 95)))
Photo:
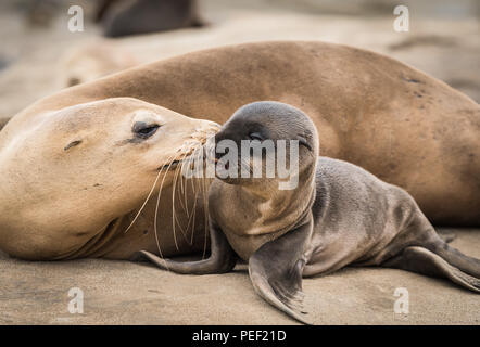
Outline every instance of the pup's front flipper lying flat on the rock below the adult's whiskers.
POLYGON ((175 261, 160 258, 147 250, 140 250, 131 260, 147 258, 161 269, 184 274, 210 274, 231 271, 237 264, 237 255, 233 249, 231 249, 225 234, 212 221, 210 222, 210 237, 211 256, 207 259, 198 261, 175 261))

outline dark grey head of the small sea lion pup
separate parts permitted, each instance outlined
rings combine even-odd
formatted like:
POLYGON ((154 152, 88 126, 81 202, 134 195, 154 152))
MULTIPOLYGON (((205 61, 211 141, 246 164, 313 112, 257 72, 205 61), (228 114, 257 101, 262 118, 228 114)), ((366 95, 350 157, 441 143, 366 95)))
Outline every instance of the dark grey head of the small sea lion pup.
POLYGON ((274 101, 240 107, 215 136, 215 143, 217 178, 261 190, 274 183, 292 190, 299 180, 307 181, 314 176, 319 146, 310 117, 274 101), (236 167, 232 157, 238 158, 236 167))

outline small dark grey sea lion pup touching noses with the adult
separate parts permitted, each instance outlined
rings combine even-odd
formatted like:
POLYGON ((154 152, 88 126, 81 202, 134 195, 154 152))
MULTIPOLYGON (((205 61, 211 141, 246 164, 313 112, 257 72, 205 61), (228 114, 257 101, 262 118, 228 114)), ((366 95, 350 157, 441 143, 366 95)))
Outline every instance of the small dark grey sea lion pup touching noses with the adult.
MULTIPOLYGON (((302 111, 279 102, 248 104, 215 136, 217 146, 224 140, 238 147, 244 140, 258 140, 256 146, 267 140, 296 140, 299 185, 281 190, 278 175, 242 177, 241 167, 251 169, 253 162, 245 162, 239 150, 238 178, 217 178, 210 189, 210 258, 177 262, 140 253, 160 268, 222 273, 233 268, 238 255, 249 261, 255 291, 302 322, 306 322, 302 275, 326 274, 348 265, 443 277, 480 293, 480 261, 440 239, 403 189, 353 164, 318 157, 317 131, 302 111)), ((279 150, 276 145, 277 154, 279 150)), ((218 176, 227 154, 216 152, 218 176)), ((262 157, 262 174, 269 155, 262 157)))

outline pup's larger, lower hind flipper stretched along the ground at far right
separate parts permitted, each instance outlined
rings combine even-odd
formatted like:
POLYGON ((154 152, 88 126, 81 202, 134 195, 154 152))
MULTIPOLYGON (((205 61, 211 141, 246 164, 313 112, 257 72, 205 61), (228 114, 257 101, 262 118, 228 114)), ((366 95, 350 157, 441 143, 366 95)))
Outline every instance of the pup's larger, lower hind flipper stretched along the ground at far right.
POLYGON ((406 247, 400 255, 383 262, 382 267, 403 269, 430 277, 447 278, 463 287, 480 293, 480 279, 465 273, 450 265, 441 256, 424 247, 406 247))

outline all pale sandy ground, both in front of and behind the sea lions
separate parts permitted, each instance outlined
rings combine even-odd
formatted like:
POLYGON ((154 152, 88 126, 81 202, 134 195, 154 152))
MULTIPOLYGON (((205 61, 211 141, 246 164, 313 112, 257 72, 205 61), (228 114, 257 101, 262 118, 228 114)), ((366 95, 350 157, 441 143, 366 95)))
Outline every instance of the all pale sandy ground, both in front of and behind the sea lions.
MULTIPOLYGON (((112 41, 139 62, 227 43, 307 39, 370 49, 396 57, 480 101, 478 7, 459 1, 403 1, 410 31, 395 33, 394 1, 201 1, 210 25, 112 41), (429 3, 435 3, 431 8, 429 3), (377 3, 376 7, 372 3, 377 3), (278 5, 274 5, 278 4, 278 5), (477 10, 476 10, 477 9, 477 10)), ((62 87, 62 56, 99 40, 99 30, 66 30, 66 15, 49 28, 26 27, 22 13, 0 4, 0 121, 62 87), (8 28, 8 29, 5 29, 8 28)), ((66 11, 65 11, 66 13, 66 11)), ((480 258, 480 230, 454 230, 453 245, 480 258)), ((317 324, 479 324, 478 295, 450 282, 391 269, 349 268, 304 281, 317 324), (397 314, 396 287, 409 292, 409 313, 397 314)), ((244 266, 222 275, 176 275, 127 261, 26 262, 0 256, 0 323, 3 324, 291 324, 254 292, 244 266), (67 311, 67 293, 85 293, 85 312, 67 311)))

